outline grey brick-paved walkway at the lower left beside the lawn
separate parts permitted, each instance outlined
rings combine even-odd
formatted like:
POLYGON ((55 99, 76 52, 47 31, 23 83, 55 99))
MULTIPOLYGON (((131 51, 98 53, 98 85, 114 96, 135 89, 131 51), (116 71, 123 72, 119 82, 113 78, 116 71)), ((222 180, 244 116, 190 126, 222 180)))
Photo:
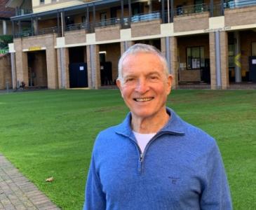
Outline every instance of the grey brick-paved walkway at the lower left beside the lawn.
POLYGON ((0 210, 59 210, 0 153, 0 210))

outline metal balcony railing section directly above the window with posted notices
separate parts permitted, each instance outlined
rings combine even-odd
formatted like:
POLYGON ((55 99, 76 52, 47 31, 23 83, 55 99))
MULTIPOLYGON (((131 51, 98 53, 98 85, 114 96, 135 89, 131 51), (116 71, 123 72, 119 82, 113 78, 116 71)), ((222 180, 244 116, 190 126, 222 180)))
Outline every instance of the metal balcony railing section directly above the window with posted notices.
POLYGON ((208 3, 194 4, 191 6, 180 6, 174 10, 174 16, 189 15, 192 13, 203 13, 210 10, 208 3))

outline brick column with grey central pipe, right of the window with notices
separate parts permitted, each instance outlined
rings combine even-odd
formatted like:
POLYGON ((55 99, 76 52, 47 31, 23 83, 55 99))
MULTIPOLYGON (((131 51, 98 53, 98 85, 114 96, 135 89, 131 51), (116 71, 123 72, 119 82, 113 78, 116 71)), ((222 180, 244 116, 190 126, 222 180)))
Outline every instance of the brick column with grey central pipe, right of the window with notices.
POLYGON ((210 32, 210 87, 227 89, 229 87, 229 55, 226 31, 210 32))

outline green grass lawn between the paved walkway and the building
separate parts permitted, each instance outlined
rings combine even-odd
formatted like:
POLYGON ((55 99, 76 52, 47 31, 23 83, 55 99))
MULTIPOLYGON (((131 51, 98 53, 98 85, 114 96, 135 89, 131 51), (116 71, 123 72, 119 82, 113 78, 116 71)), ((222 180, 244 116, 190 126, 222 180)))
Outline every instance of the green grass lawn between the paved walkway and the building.
MULTIPOLYGON (((255 209, 256 90, 174 90, 168 106, 217 139, 234 209, 255 209)), ((127 111, 118 90, 0 94, 0 152, 59 207, 81 209, 95 136, 127 111)))

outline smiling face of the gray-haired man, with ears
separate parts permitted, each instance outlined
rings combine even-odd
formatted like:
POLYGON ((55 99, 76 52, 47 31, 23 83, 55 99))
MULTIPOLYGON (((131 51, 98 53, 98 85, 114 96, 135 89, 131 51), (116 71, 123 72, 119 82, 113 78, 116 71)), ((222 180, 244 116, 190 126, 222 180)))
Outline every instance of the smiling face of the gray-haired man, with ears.
POLYGON ((161 118, 172 76, 166 76, 157 55, 137 52, 123 60, 123 83, 117 80, 121 95, 135 118, 161 118))

